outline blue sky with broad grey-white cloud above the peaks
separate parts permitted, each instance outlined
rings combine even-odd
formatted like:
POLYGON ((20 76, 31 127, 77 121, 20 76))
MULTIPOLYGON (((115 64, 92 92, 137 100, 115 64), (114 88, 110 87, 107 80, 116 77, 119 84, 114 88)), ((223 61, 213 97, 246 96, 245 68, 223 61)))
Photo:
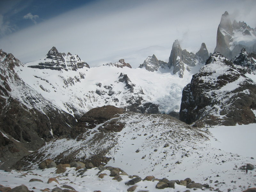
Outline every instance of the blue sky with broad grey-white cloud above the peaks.
POLYGON ((0 49, 23 63, 55 46, 91 67, 124 59, 133 68, 172 44, 196 53, 216 46, 221 15, 256 27, 255 0, 1 0, 0 49))

